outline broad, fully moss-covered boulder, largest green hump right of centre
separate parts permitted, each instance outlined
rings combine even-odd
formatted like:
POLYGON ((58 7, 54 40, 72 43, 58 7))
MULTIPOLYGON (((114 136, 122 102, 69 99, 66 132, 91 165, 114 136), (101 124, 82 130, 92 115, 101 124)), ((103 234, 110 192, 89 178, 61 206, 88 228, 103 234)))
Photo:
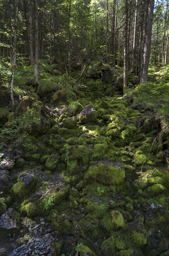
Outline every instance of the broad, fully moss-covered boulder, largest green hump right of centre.
POLYGON ((85 183, 97 181, 105 185, 120 185, 124 182, 125 171, 113 164, 99 163, 91 165, 84 175, 85 183))

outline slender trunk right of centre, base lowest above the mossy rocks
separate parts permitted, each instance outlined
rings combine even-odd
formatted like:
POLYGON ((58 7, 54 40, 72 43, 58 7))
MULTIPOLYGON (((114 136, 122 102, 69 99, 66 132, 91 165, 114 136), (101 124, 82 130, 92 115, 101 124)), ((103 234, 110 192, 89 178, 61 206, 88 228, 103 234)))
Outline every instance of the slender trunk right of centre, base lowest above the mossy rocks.
POLYGON ((125 0, 125 30, 124 30, 124 83, 123 94, 125 94, 127 88, 127 32, 128 32, 128 0, 125 0))

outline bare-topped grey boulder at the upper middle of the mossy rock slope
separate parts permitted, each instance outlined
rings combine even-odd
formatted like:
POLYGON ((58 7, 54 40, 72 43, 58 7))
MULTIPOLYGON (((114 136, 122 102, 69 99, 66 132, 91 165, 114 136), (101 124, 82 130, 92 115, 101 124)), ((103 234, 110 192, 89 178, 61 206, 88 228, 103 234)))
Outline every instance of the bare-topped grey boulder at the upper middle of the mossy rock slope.
POLYGON ((83 108, 81 113, 79 114, 79 121, 81 124, 95 122, 97 118, 97 113, 92 107, 92 105, 87 105, 83 108))

